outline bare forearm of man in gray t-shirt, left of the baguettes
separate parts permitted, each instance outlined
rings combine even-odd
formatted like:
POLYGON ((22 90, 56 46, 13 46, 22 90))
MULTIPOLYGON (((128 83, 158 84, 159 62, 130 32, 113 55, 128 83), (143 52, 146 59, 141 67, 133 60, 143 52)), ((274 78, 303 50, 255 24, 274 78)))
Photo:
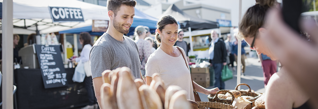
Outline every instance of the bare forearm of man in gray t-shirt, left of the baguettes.
POLYGON ((96 77, 93 78, 93 86, 94 86, 94 91, 95 91, 95 96, 98 102, 98 105, 101 107, 101 102, 100 102, 100 87, 103 84, 102 77, 96 77))

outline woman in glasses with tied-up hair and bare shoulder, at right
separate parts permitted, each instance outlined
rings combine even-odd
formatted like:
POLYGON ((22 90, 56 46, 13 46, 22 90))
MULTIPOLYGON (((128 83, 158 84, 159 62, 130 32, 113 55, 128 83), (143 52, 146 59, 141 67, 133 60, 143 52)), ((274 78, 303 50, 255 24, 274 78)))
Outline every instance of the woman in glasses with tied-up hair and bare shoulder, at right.
MULTIPOLYGON (((273 49, 270 49, 272 45, 266 43, 266 37, 270 37, 270 28, 265 26, 265 15, 275 4, 278 4, 276 0, 256 0, 256 4, 247 9, 239 24, 238 37, 245 39, 258 54, 266 54, 272 60, 278 60, 278 57, 273 54, 273 49)), ((308 109, 308 99, 309 96, 285 67, 273 74, 267 83, 266 109, 308 109)))

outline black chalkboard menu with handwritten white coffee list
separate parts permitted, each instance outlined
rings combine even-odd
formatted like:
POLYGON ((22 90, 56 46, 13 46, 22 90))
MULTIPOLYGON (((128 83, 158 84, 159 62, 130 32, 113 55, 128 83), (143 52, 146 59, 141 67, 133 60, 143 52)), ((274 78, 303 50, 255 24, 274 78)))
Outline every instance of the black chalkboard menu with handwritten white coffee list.
POLYGON ((35 45, 44 88, 67 86, 66 73, 58 45, 35 45))

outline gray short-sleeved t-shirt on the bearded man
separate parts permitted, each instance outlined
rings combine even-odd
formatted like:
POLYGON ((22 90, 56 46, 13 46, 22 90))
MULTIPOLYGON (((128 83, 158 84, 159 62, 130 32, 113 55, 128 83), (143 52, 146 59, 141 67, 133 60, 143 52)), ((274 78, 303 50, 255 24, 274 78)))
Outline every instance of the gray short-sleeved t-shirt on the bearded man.
POLYGON ((101 77, 105 70, 118 67, 129 67, 132 75, 140 78, 140 59, 137 44, 129 37, 123 36, 124 41, 117 41, 104 33, 95 42, 90 51, 90 66, 92 77, 101 77))

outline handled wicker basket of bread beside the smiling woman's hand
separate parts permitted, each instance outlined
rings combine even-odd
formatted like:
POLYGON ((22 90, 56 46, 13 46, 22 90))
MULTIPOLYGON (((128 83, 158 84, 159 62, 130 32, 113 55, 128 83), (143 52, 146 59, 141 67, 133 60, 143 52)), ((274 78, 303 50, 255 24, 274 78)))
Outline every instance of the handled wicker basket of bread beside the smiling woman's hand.
POLYGON ((228 90, 219 90, 214 95, 214 97, 208 96, 208 99, 209 99, 210 102, 218 102, 218 103, 225 103, 225 104, 232 105, 232 103, 234 101, 234 95, 233 95, 233 93, 231 93, 228 90), (232 95, 232 99, 220 99, 220 98, 218 98, 218 94, 221 94, 221 93, 230 93, 232 95))

